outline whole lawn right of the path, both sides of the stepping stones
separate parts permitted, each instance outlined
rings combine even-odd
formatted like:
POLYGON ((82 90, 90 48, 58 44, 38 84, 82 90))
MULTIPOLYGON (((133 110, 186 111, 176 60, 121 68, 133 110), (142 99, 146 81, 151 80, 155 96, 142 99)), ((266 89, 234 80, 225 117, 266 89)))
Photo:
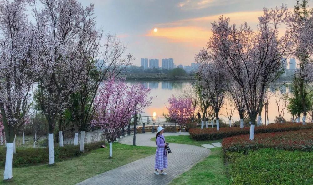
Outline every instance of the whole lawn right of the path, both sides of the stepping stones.
MULTIPOLYGON (((155 138, 151 139, 155 141, 155 138)), ((221 142, 219 140, 211 141, 194 141, 190 136, 166 136, 165 140, 168 143, 181 143, 201 146, 202 144, 221 142)), ((197 163, 189 171, 175 178, 170 185, 223 185, 228 184, 228 178, 226 176, 226 167, 224 165, 224 157, 222 148, 212 148, 211 154, 203 161, 197 163)))

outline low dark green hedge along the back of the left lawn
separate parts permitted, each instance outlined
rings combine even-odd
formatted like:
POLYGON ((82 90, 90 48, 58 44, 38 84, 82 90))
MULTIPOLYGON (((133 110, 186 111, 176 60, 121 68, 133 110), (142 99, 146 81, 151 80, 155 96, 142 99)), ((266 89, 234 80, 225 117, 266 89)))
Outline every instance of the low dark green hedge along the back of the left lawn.
MULTIPOLYGON (((91 150, 100 148, 101 145, 105 144, 104 141, 88 143, 84 146, 84 153, 91 150)), ((62 161, 77 156, 83 155, 80 152, 80 146, 64 145, 64 147, 54 146, 54 157, 55 161, 62 161)), ((0 149, 0 164, 2 167, 5 164, 6 148, 0 149)), ((16 154, 13 155, 13 166, 32 166, 36 164, 48 164, 49 163, 49 152, 48 148, 16 148, 16 154)))

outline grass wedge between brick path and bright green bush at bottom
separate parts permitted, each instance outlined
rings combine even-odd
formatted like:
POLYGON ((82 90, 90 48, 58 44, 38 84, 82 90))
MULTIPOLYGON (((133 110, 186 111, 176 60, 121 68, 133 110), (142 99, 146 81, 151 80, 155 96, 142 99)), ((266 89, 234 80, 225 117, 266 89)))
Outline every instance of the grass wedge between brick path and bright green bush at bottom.
POLYGON ((175 178, 170 185, 228 184, 221 148, 212 148, 211 154, 189 171, 175 178))

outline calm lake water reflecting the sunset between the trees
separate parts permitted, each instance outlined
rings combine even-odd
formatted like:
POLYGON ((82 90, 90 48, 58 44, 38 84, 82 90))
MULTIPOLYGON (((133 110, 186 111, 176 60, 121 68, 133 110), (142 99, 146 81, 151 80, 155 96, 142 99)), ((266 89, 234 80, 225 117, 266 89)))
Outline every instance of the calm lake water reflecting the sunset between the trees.
MULTIPOLYGON (((149 108, 146 108, 144 110, 144 113, 142 113, 142 116, 152 116, 155 112, 155 115, 162 115, 162 113, 167 114, 167 100, 168 98, 172 97, 173 95, 176 96, 180 94, 185 88, 188 88, 190 86, 190 82, 186 81, 127 81, 127 83, 142 83, 147 88, 151 88, 151 96, 156 97, 153 99, 152 104, 149 108)), ((271 95, 269 98, 269 123, 274 122, 275 116, 278 115, 278 109, 277 104, 275 101, 275 93, 277 94, 285 94, 289 92, 288 87, 281 87, 278 91, 273 90, 274 88, 269 88, 269 94, 271 95)), ((280 106, 283 106, 283 102, 281 101, 280 106)), ((234 105, 233 105, 234 106, 234 105)), ((228 123, 228 118, 224 115, 226 114, 226 109, 228 109, 228 112, 230 110, 229 102, 225 102, 224 106, 222 107, 220 111, 220 118, 223 119, 226 123, 228 123)), ((265 111, 263 109, 262 112, 262 122, 264 123, 265 120, 265 111)), ((284 110, 284 118, 289 121, 291 119, 291 115, 287 112, 287 108, 284 110)), ((238 121, 239 115, 237 111, 235 110, 235 113, 232 117, 232 122, 238 121)))

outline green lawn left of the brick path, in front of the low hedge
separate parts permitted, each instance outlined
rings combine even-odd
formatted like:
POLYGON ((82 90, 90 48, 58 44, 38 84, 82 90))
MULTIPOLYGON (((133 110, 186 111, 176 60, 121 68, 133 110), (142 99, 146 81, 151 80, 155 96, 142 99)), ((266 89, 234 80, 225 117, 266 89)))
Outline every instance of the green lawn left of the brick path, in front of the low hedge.
MULTIPOLYGON (((155 147, 139 147, 113 144, 113 158, 109 159, 109 148, 99 148, 89 154, 58 162, 53 166, 40 165, 13 168, 13 180, 0 184, 44 184, 68 185, 79 183, 105 171, 131 163, 155 153, 155 147)), ((3 169, 0 170, 3 179, 3 169)))

